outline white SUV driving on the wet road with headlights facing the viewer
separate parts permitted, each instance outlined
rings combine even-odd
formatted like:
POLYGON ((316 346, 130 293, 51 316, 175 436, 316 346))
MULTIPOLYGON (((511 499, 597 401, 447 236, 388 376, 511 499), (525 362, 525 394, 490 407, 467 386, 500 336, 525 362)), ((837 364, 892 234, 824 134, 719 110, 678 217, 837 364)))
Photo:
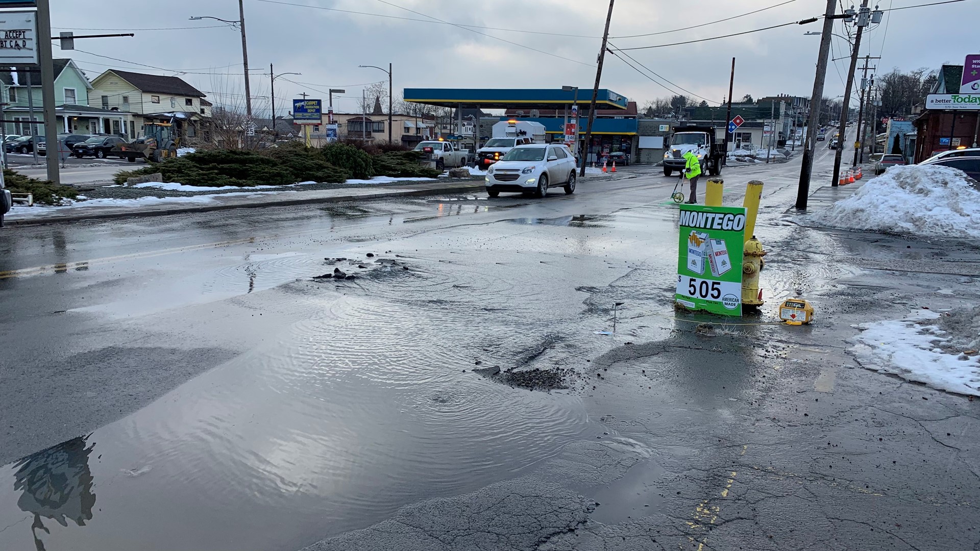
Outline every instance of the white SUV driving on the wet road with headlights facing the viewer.
POLYGON ((491 165, 483 181, 491 197, 501 191, 544 197, 549 187, 557 185, 570 194, 575 192, 575 158, 561 143, 519 145, 491 165))

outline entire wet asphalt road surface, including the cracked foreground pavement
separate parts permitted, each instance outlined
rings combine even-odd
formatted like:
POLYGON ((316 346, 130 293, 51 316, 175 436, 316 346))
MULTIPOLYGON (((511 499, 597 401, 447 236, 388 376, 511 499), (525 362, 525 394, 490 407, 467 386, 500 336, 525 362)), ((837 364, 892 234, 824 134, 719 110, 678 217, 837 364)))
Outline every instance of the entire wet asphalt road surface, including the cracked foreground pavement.
POLYGON ((794 224, 798 167, 725 174, 744 326, 674 318, 656 173, 5 231, 0 549, 980 549, 980 402, 846 353, 980 252, 794 224))

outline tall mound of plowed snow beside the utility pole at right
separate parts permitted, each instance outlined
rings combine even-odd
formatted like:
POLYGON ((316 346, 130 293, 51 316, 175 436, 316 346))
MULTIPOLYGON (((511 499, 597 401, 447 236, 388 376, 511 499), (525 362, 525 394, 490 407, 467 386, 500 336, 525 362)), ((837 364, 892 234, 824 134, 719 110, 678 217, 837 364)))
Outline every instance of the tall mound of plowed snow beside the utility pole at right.
POLYGON ((892 167, 808 218, 847 229, 980 239, 980 191, 970 181, 949 167, 892 167))

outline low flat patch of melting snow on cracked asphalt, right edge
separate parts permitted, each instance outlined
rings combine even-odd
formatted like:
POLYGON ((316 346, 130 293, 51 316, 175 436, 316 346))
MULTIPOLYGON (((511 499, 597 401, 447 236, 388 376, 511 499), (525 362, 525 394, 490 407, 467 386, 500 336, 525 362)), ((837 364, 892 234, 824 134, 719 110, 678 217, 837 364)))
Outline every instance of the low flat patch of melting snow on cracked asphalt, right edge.
POLYGON ((942 316, 913 311, 902 320, 858 326, 863 332, 851 352, 869 370, 980 396, 980 358, 975 348, 965 348, 976 345, 978 322, 977 309, 942 316))

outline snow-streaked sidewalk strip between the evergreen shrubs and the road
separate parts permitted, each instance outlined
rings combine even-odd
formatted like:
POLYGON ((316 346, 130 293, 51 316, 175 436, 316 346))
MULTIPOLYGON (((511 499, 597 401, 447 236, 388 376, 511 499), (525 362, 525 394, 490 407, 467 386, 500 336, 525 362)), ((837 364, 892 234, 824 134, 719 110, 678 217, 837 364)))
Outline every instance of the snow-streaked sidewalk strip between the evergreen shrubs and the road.
POLYGON ((163 216, 203 213, 226 209, 288 207, 309 203, 339 203, 391 197, 471 193, 483 189, 482 181, 432 181, 398 186, 364 186, 309 191, 243 191, 190 197, 143 197, 140 199, 95 199, 65 207, 15 207, 4 217, 4 225, 38 225, 80 220, 163 216), (114 204, 115 202, 115 204, 114 204), (85 203, 96 203, 86 205, 85 203))

